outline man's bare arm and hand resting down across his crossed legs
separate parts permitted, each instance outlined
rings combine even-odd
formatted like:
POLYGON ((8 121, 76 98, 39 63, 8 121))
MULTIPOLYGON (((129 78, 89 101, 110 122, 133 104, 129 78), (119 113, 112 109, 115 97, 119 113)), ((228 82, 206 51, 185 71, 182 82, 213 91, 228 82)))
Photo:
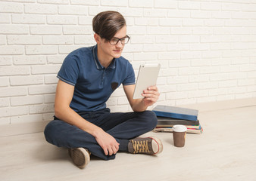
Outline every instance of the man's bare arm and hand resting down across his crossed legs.
POLYGON ((73 90, 73 85, 67 84, 61 80, 58 81, 55 95, 55 116, 92 134, 98 145, 104 150, 105 155, 116 154, 119 149, 119 143, 117 143, 114 137, 95 124, 86 121, 70 108, 73 90))

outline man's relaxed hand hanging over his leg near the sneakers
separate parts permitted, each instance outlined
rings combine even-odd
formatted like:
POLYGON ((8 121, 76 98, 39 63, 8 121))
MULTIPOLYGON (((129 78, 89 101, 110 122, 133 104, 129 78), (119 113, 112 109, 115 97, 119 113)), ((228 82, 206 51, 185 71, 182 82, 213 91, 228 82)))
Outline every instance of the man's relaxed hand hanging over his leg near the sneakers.
POLYGON ((117 153, 119 143, 104 130, 98 130, 97 133, 95 133, 95 139, 98 145, 104 150, 105 155, 113 155, 117 153))

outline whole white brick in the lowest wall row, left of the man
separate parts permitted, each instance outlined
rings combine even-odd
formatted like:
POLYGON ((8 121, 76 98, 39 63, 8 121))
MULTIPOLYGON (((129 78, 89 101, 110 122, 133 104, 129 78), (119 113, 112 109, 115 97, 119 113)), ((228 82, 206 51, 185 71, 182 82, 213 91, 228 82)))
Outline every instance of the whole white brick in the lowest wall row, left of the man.
POLYGON ((11 124, 31 123, 43 121, 42 114, 20 115, 11 117, 11 124))

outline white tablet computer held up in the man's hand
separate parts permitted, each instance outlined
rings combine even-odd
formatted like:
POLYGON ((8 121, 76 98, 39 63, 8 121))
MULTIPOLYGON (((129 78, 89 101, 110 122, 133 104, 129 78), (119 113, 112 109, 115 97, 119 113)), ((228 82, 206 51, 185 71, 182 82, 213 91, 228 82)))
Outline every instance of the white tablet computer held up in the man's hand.
POLYGON ((145 64, 139 66, 139 74, 136 80, 136 86, 133 94, 133 99, 140 99, 142 97, 143 90, 147 90, 148 87, 154 86, 157 83, 158 73, 160 70, 160 64, 145 64))

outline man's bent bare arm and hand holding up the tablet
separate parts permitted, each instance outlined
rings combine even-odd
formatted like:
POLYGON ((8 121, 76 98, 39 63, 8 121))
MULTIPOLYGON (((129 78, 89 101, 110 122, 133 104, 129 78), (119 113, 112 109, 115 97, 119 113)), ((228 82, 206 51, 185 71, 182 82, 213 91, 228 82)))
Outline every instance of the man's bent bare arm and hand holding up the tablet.
POLYGON ((123 90, 134 112, 145 111, 148 108, 148 106, 152 106, 155 102, 157 102, 158 97, 160 95, 158 92, 158 87, 151 86, 148 87, 147 90, 143 90, 143 99, 134 100, 133 93, 135 90, 135 84, 123 85, 123 90))

